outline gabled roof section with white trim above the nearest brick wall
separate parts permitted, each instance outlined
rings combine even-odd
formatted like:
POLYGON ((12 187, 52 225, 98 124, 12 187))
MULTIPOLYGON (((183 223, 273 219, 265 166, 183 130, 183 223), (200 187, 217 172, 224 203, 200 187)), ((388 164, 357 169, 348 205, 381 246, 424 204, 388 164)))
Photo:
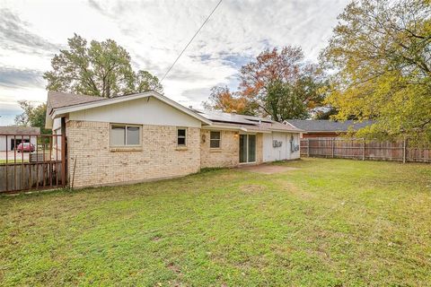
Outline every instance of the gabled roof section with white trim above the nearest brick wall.
POLYGON ((209 121, 206 117, 202 117, 198 115, 191 109, 188 109, 176 101, 173 101, 162 94, 156 91, 145 91, 141 93, 126 95, 126 96, 118 96, 114 98, 101 98, 94 96, 86 96, 79 95, 74 93, 66 93, 66 92, 58 92, 58 91, 49 91, 48 92, 48 109, 47 109, 47 120, 46 126, 52 126, 52 119, 56 117, 62 117, 67 113, 83 110, 83 109, 92 109, 97 107, 102 107, 106 105, 111 105, 123 101, 128 100, 137 100, 143 98, 154 97, 157 100, 161 100, 164 103, 172 106, 175 109, 179 109, 180 111, 188 114, 190 117, 195 117, 206 125, 210 125, 211 121, 209 121))

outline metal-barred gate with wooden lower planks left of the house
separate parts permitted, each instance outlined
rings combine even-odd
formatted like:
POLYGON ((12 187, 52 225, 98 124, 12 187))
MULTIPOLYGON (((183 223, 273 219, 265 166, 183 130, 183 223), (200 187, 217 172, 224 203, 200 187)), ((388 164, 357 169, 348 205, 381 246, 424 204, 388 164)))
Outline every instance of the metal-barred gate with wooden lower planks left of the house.
POLYGON ((1 134, 0 194, 66 187, 65 135, 1 134))

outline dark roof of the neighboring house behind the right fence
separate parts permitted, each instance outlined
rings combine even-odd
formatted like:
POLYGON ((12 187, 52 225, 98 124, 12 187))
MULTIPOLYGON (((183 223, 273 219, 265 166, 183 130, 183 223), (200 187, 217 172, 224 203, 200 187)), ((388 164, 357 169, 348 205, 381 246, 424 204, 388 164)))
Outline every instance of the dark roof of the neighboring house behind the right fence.
POLYGON ((354 120, 288 119, 286 122, 303 129, 305 132, 347 132, 350 128, 356 131, 362 127, 371 126, 373 124, 372 120, 358 122, 354 120))

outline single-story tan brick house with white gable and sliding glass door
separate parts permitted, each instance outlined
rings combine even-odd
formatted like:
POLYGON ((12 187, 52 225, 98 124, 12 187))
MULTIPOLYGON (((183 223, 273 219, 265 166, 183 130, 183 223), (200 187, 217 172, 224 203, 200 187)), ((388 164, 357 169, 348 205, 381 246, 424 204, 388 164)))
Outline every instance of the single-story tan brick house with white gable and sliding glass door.
POLYGON ((75 187, 300 156, 295 126, 188 109, 155 91, 110 99, 50 91, 47 107, 46 126, 66 134, 67 172, 75 187))

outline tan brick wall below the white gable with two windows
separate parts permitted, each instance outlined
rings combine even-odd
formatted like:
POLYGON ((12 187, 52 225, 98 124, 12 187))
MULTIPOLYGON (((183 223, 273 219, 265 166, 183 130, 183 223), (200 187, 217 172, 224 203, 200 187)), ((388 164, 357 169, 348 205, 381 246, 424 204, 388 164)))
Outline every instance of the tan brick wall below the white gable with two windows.
POLYGON ((178 149, 176 126, 142 126, 142 147, 110 148, 110 124, 66 123, 68 169, 74 187, 173 178, 200 169, 200 128, 187 130, 187 149, 178 149))

